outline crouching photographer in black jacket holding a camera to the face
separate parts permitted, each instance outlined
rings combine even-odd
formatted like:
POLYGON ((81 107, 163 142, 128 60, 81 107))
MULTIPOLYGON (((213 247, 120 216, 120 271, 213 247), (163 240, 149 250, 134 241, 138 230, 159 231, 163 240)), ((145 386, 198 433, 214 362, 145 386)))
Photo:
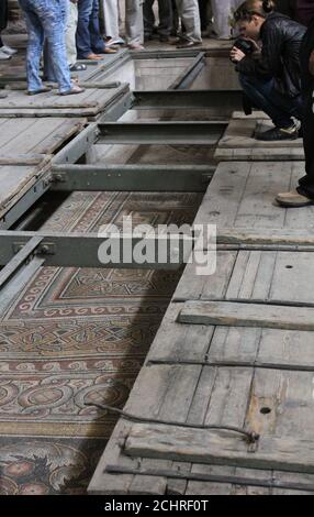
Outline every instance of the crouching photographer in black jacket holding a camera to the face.
POLYGON ((298 139, 295 119, 302 119, 303 110, 300 48, 306 29, 274 12, 271 0, 246 1, 235 12, 235 21, 242 38, 231 58, 251 106, 265 111, 274 124, 256 139, 298 139))

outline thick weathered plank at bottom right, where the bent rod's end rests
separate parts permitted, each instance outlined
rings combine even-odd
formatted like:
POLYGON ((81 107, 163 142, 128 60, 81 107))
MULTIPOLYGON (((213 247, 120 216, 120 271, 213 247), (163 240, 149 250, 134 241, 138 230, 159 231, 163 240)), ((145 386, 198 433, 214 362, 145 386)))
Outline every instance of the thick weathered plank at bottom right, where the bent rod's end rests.
POLYGON ((298 438, 262 436, 253 453, 243 437, 229 431, 136 424, 132 426, 125 441, 125 453, 132 457, 314 473, 313 441, 298 438))

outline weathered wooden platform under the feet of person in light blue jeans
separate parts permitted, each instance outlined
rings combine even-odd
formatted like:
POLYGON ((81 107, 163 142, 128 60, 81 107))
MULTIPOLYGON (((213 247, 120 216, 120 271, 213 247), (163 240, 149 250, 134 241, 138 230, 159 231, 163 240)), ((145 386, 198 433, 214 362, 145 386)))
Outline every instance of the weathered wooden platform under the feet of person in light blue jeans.
POLYGON ((27 97, 21 90, 8 90, 8 97, 0 99, 0 118, 97 117, 127 91, 128 85, 111 89, 88 88, 83 94, 69 97, 59 96, 57 90, 34 97, 27 97))

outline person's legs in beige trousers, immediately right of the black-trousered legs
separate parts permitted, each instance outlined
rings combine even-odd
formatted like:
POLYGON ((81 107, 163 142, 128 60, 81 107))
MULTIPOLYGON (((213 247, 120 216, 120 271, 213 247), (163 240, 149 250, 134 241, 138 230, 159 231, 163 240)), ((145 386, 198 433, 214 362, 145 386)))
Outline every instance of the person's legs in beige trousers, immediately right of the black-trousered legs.
POLYGON ((201 19, 198 0, 176 0, 184 33, 180 33, 177 48, 191 48, 201 45, 201 19))

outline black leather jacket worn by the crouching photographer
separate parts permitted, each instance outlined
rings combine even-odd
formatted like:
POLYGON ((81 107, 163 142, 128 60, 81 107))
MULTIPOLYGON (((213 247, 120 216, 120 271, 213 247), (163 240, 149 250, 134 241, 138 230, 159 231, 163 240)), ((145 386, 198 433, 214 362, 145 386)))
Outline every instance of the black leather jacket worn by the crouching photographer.
POLYGON ((246 56, 236 70, 248 76, 274 78, 276 88, 296 97, 301 92, 300 48, 306 28, 288 16, 269 14, 260 32, 262 43, 258 58, 246 56))

